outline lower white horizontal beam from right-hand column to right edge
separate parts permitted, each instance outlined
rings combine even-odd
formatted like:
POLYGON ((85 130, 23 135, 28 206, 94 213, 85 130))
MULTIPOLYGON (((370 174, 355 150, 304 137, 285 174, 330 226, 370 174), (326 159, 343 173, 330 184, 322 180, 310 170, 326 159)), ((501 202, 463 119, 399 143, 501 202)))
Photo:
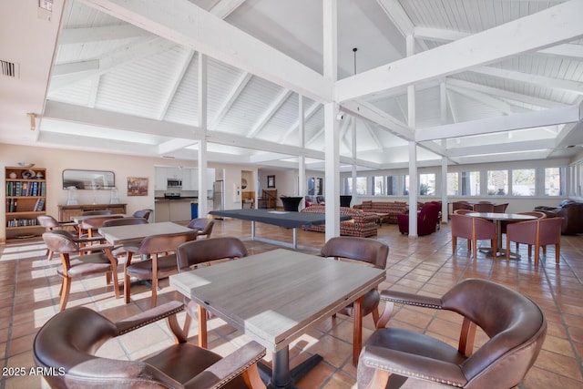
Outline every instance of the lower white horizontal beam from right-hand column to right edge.
POLYGON ((461 138, 471 135, 493 134, 514 129, 554 126, 580 120, 578 106, 546 109, 504 117, 484 118, 432 128, 417 128, 415 140, 461 138))

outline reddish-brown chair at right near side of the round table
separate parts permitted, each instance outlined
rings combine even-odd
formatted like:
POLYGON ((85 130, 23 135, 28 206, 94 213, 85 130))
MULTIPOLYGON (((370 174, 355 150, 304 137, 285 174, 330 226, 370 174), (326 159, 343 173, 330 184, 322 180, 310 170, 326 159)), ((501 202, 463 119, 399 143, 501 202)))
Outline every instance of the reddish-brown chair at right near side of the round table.
POLYGON ((510 242, 526 243, 528 245, 528 258, 531 248, 535 248, 535 266, 538 266, 540 248, 543 255, 547 255, 547 245, 555 245, 555 263, 560 260, 561 251, 561 225, 563 218, 539 218, 537 220, 520 221, 506 226, 506 260, 510 256, 510 242))

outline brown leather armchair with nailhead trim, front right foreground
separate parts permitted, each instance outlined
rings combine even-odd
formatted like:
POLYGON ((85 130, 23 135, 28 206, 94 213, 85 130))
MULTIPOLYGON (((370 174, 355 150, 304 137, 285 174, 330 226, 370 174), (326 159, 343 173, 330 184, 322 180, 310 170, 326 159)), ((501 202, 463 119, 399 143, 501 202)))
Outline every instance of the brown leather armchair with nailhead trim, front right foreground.
POLYGON ((388 308, 382 327, 395 302, 459 313, 464 319, 459 344, 455 348, 424 333, 380 328, 360 355, 359 388, 396 387, 407 379, 464 388, 514 387, 535 363, 547 334, 545 315, 535 302, 486 280, 465 280, 442 297, 397 291, 381 296, 388 308), (476 327, 488 340, 475 350, 476 327))

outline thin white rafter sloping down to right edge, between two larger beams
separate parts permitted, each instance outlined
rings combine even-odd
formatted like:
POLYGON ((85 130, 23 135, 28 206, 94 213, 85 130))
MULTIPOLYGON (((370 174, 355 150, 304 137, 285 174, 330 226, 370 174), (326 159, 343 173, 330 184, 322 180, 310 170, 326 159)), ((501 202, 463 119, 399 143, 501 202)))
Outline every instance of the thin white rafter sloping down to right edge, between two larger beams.
POLYGON ((474 67, 469 69, 469 71, 490 77, 520 81, 526 84, 536 85, 537 87, 547 87, 556 91, 583 95, 583 82, 579 81, 538 76, 531 73, 517 72, 516 70, 501 69, 499 67, 474 67))

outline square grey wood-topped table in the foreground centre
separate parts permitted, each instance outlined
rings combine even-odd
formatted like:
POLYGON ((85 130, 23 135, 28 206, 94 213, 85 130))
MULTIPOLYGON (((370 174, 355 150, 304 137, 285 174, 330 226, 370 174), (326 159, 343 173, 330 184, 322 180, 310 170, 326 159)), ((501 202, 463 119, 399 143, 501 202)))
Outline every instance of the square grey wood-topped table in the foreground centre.
POLYGON ((261 343, 273 354, 271 388, 294 381, 322 360, 290 370, 289 345, 316 323, 354 303, 353 364, 363 336, 363 296, 384 270, 278 249, 170 276, 170 285, 199 304, 199 345, 206 346, 206 311, 261 343))

